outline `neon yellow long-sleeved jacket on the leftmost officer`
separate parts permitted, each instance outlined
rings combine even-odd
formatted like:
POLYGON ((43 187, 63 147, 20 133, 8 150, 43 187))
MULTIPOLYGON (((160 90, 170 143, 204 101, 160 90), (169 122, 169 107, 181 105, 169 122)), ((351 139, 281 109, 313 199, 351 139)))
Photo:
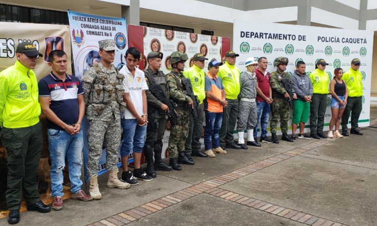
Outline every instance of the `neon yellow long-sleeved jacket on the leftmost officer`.
POLYGON ((30 127, 39 122, 38 83, 33 70, 18 60, 0 72, 0 126, 30 127))

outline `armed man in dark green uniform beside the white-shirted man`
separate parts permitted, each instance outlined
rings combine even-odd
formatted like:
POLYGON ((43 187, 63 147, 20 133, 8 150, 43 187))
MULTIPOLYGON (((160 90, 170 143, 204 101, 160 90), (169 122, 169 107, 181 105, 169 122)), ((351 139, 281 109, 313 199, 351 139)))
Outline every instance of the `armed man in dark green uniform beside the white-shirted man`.
MULTIPOLYGON (((160 71, 161 60, 163 54, 158 52, 150 52, 147 56, 148 68, 144 70, 145 80, 148 88, 155 83, 160 84, 161 87, 166 89, 165 75, 160 71)), ((158 100, 151 91, 145 90, 148 101, 148 127, 147 127, 147 139, 144 145, 145 159, 147 160, 147 168, 145 172, 151 176, 156 177, 155 170, 170 171, 171 166, 165 164, 161 159, 162 152, 162 139, 166 130, 165 115, 160 114, 159 108, 168 111, 169 107, 158 100), (153 151, 154 151, 154 165, 153 165, 153 151)))

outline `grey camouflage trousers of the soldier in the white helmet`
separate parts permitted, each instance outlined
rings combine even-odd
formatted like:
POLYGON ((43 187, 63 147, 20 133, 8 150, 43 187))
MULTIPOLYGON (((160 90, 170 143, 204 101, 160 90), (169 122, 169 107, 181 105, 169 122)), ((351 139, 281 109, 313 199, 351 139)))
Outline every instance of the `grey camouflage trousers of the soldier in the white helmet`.
POLYGON ((237 114, 237 131, 243 132, 254 129, 256 125, 256 102, 240 101, 237 114))

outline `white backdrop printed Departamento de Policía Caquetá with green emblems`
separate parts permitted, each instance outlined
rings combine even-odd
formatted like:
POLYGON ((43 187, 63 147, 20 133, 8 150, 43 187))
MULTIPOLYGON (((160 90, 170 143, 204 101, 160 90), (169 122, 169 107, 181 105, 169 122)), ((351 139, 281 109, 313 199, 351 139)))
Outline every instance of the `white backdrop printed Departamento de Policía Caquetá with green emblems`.
MULTIPOLYGON (((306 73, 310 74, 315 70, 315 62, 322 58, 329 63, 325 71, 330 79, 334 77, 335 68, 341 67, 345 72, 350 68, 353 58, 360 59, 359 70, 362 73, 363 97, 359 126, 369 126, 373 52, 372 31, 235 20, 233 48, 234 51, 240 54, 240 57, 237 58, 236 66, 241 71, 245 71, 244 63, 248 57, 259 58, 264 56, 268 59, 267 71, 271 73, 276 70, 273 66, 275 58, 283 56, 289 58, 288 73, 292 74, 296 69, 296 63, 301 60, 306 63, 306 73)), ((328 95, 325 130, 328 130, 331 119, 330 100, 331 95, 328 95)), ((289 125, 291 125, 291 120, 289 125)), ((309 132, 308 125, 309 122, 305 132, 309 132)), ((348 126, 350 127, 350 125, 348 126)), ((279 125, 277 132, 281 134, 279 125)))

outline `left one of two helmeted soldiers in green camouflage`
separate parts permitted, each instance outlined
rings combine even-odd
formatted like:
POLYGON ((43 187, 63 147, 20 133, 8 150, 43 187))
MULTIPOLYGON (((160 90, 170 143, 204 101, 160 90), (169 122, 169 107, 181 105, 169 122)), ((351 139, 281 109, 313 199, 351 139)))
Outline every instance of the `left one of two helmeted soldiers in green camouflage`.
POLYGON ((184 155, 184 143, 189 135, 190 128, 190 112, 187 105, 193 107, 193 100, 190 96, 185 95, 183 92, 183 84, 181 82, 184 79, 182 71, 184 69, 184 62, 189 59, 186 54, 181 52, 173 52, 170 55, 170 64, 172 71, 166 75, 166 84, 170 90, 170 98, 176 102, 177 107, 174 109, 177 112, 178 120, 171 122, 169 145, 167 151, 169 153, 169 165, 173 170, 182 170, 182 167, 177 163, 175 148, 178 151, 178 159, 182 164, 194 165, 184 155))

